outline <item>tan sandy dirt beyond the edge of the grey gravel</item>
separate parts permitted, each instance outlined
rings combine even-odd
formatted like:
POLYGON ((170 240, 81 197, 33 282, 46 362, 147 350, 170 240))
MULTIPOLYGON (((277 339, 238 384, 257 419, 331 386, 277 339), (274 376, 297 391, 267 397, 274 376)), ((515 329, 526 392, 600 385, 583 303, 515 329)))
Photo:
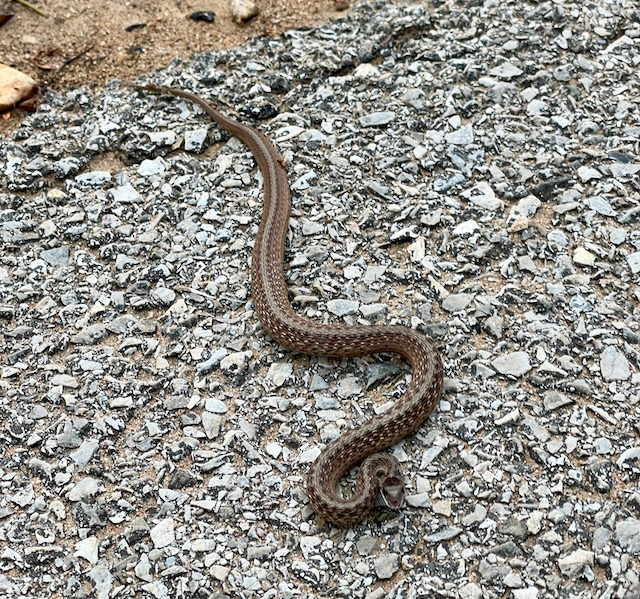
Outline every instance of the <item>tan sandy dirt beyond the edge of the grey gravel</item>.
MULTIPOLYGON (((9 2, 15 14, 0 27, 0 62, 30 75, 42 90, 130 82, 176 56, 344 15, 334 0, 256 2, 260 14, 244 25, 232 20, 230 0, 32 0, 47 17, 9 2), (215 21, 192 20, 196 11, 215 13, 215 21)), ((22 117, 20 110, 2 115, 0 134, 22 117)))

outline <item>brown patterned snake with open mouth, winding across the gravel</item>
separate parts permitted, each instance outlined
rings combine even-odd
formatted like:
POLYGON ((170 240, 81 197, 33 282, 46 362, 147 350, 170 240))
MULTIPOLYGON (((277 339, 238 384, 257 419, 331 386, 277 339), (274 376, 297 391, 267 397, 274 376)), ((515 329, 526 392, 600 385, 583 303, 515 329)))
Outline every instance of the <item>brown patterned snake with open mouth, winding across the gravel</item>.
POLYGON ((325 325, 296 314, 284 279, 291 193, 280 154, 262 133, 230 119, 192 93, 155 85, 138 89, 195 102, 255 157, 264 177, 264 207, 253 246, 251 291, 267 333, 281 345, 303 354, 346 358, 393 352, 409 361, 413 377, 402 398, 386 412, 331 441, 311 466, 307 479, 311 505, 334 524, 352 524, 362 518, 379 493, 389 507, 400 508, 404 499, 400 464, 393 456, 377 452, 418 429, 438 402, 443 378, 438 352, 424 335, 404 326, 325 325), (343 498, 336 492, 340 479, 359 462, 363 463, 355 491, 343 498))

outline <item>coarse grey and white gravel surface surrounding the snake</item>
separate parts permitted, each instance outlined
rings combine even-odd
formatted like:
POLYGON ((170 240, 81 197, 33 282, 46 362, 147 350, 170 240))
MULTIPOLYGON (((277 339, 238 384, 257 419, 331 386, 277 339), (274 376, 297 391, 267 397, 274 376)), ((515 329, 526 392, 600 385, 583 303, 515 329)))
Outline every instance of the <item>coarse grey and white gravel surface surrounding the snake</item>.
POLYGON ((265 336, 260 175, 189 102, 47 96, 0 141, 0 595, 640 597, 639 45, 630 0, 381 2, 149 74, 275 140, 300 313, 441 348, 408 505, 347 530, 304 475, 408 370, 265 336))

